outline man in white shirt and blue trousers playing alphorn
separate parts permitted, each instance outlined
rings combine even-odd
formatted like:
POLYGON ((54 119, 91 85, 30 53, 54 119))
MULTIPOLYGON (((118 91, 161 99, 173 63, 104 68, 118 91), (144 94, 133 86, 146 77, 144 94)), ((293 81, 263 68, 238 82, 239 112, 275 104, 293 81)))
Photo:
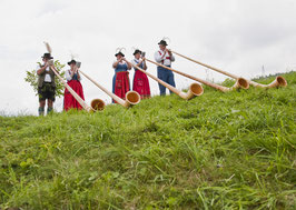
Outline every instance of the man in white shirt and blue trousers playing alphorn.
MULTIPOLYGON (((167 46, 167 42, 165 40, 161 40, 158 44, 167 46)), ((156 62, 161 63, 166 67, 171 67, 171 62, 175 61, 175 57, 172 54, 170 56, 167 51, 158 50, 157 52, 155 52, 155 60, 156 62)), ((160 80, 167 82, 168 84, 176 87, 174 73, 170 70, 165 69, 162 67, 157 67, 157 77, 160 80)), ((164 87, 160 83, 158 83, 158 86, 159 86, 160 96, 165 96, 166 87, 164 87)), ((172 92, 170 91, 170 93, 172 92)))

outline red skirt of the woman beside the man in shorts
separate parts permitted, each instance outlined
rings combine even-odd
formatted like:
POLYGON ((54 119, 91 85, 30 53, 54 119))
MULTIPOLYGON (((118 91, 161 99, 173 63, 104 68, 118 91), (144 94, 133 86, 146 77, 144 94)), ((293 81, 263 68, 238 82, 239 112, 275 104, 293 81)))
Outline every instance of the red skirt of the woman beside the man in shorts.
MULTIPOLYGON (((78 80, 71 80, 67 82, 73 91, 85 100, 83 89, 78 80)), ((69 109, 82 109, 79 102, 73 98, 67 88, 65 88, 65 98, 63 98, 63 110, 68 111, 69 109)))

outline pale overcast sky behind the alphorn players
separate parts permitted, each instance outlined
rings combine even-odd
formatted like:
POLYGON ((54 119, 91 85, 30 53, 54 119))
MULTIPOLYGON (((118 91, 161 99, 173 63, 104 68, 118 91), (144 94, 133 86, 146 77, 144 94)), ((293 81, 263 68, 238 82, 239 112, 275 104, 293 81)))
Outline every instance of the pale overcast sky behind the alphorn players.
MULTIPOLYGON (((52 48, 66 63, 78 54, 81 70, 111 90, 116 49, 140 48, 152 58, 158 41, 234 74, 251 78, 296 69, 295 0, 0 0, 0 113, 38 113, 38 98, 26 70, 52 48)), ((201 79, 226 77, 176 57, 174 68, 201 79)), ((67 67, 68 68, 68 67, 67 67)), ((156 67, 148 66, 156 74, 156 67)), ((134 71, 130 73, 130 79, 134 71)), ((175 74, 177 88, 190 80, 175 74)), ((158 84, 149 79, 152 94, 158 84)), ((110 98, 82 79, 86 101, 110 98)), ((55 108, 62 109, 62 98, 55 108)))

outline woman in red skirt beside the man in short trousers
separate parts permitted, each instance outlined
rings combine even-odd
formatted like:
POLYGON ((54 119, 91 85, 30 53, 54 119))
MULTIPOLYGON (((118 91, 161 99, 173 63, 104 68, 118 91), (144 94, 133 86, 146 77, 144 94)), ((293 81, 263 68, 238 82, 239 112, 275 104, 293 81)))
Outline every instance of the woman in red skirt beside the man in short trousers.
MULTIPOLYGON (((71 69, 66 71, 67 83, 76 91, 76 93, 85 100, 83 89, 80 83, 80 74, 78 72, 78 67, 76 66, 76 60, 68 62, 71 69)), ((82 109, 79 102, 72 97, 72 94, 65 88, 65 98, 63 98, 63 110, 68 111, 69 109, 82 109)))

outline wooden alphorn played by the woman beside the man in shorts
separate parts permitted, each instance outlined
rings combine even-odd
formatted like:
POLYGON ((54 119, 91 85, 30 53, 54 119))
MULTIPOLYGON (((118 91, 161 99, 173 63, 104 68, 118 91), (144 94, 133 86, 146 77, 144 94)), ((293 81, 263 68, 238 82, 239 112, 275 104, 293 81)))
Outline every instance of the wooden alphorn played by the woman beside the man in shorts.
MULTIPOLYGON (((116 96, 115 93, 110 92, 109 90, 107 90, 106 88, 103 88, 102 86, 100 86, 98 82, 96 82, 95 80, 92 80, 89 76, 87 76, 85 72, 82 72, 81 70, 79 70, 80 73, 82 73, 87 79, 89 79, 93 84, 96 84, 99 89, 101 89, 103 92, 106 92, 109 97, 111 97, 115 101, 117 101, 119 104, 121 104, 125 108, 138 104, 141 100, 141 97, 138 92, 136 91, 128 91, 126 93, 126 100, 119 98, 118 96, 116 96)), ((91 104, 96 103, 96 100, 91 101, 91 104)))

